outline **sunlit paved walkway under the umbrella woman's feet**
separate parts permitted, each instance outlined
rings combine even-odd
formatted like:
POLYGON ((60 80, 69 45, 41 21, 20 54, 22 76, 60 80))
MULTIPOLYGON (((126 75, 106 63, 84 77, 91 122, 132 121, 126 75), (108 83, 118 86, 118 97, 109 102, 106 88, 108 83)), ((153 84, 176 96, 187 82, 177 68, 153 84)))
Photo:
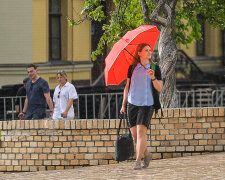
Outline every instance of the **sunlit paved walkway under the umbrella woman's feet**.
POLYGON ((214 180, 225 179, 225 152, 173 159, 153 160, 147 169, 133 170, 133 162, 0 175, 1 180, 214 180))

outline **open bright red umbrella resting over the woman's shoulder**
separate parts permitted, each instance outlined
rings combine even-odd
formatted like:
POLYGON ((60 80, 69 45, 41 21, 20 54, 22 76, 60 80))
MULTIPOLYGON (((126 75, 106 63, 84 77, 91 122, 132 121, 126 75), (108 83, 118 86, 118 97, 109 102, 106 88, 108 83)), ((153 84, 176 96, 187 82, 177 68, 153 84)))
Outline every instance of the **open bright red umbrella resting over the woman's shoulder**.
POLYGON ((154 49, 160 32, 155 26, 143 25, 128 31, 116 44, 105 59, 106 85, 119 85, 126 77, 137 46, 147 43, 154 49))

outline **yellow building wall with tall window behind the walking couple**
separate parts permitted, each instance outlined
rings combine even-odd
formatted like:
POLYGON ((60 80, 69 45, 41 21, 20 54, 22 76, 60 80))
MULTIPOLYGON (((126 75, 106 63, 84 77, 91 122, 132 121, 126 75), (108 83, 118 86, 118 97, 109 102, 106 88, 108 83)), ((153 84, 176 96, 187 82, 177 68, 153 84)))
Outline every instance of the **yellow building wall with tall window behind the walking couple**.
POLYGON ((56 72, 65 70, 75 85, 91 84, 91 23, 79 20, 83 0, 0 1, 0 86, 20 84, 26 66, 35 63, 39 75, 54 89, 56 72))

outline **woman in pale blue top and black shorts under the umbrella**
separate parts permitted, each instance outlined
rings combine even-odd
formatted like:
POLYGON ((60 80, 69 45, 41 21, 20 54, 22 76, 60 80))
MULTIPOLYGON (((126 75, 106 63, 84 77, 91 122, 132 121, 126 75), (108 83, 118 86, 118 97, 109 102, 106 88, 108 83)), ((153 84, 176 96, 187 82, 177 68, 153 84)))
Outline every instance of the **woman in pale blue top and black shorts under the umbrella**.
POLYGON ((126 113, 127 105, 128 123, 136 143, 136 161, 133 169, 147 168, 152 159, 152 154, 147 150, 146 131, 156 104, 159 103, 156 91, 162 90, 163 82, 160 68, 153 63, 151 55, 152 49, 149 44, 138 45, 133 65, 128 70, 120 110, 120 113, 126 113), (143 166, 141 166, 142 158, 144 158, 143 166))

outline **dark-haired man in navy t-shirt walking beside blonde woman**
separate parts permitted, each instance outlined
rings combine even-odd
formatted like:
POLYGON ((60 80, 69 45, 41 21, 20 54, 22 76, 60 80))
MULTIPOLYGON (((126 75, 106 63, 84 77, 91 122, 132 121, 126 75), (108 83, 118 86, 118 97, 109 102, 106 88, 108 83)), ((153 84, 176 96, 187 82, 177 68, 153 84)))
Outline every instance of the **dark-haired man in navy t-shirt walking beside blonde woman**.
POLYGON ((53 115, 53 104, 50 96, 48 82, 38 75, 37 66, 27 66, 30 80, 26 85, 26 99, 23 112, 19 114, 20 119, 44 119, 46 118, 46 102, 50 109, 50 117, 53 115))

